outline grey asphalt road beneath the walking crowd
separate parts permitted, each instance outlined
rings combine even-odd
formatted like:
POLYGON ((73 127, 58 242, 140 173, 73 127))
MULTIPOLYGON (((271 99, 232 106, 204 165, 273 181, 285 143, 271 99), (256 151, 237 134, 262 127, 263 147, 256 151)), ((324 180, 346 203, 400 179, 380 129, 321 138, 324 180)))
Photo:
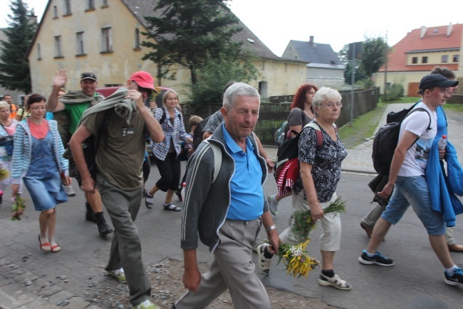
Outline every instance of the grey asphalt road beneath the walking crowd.
MULTIPOLYGON (((158 177, 153 165, 149 185, 158 177)), ((318 270, 308 278, 293 279, 286 276, 283 265, 273 261, 270 275, 260 275, 264 285, 291 290, 308 298, 321 298, 323 302, 340 308, 461 308, 463 287, 452 287, 444 283, 442 265, 430 248, 427 234, 412 210, 391 228, 380 251, 394 258, 396 265, 382 268, 361 265, 357 258, 368 243, 360 228, 360 219, 370 209, 372 198, 366 184, 371 175, 343 173, 338 185, 338 196, 347 201, 348 211, 340 216, 343 223, 342 248, 335 256, 335 271, 353 285, 353 290, 341 291, 322 287, 317 283, 318 270)), ((273 193, 274 179, 269 176, 264 185, 266 193, 273 193)), ((140 208, 137 228, 142 238, 143 260, 147 265, 165 258, 182 259, 180 249, 181 213, 164 211, 162 201, 165 193, 155 196, 155 206, 148 210, 140 208)), ((27 196, 26 196, 27 198, 27 196)), ((5 200, 5 199, 4 199, 5 200)), ((103 267, 108 258, 111 236, 100 238, 93 223, 84 221, 83 194, 58 207, 56 235, 63 250, 60 253, 43 253, 38 249, 38 213, 32 206, 26 208, 23 220, 9 220, 9 203, 0 208, 0 252, 32 273, 51 280, 58 286, 81 295, 95 288, 88 288, 89 280, 104 285, 103 267), (31 253, 26 261, 24 256, 31 253), (56 278, 66 275, 68 282, 56 278), (91 278, 91 279, 90 279, 91 278)), ((179 203, 179 206, 182 204, 179 203)), ((274 218, 279 231, 288 226, 291 215, 291 199, 286 198, 279 206, 279 216, 274 218)), ((457 240, 463 242, 463 228, 454 229, 457 240)), ((265 237, 264 233, 261 235, 265 237)), ((309 253, 320 258, 317 229, 308 245, 309 253)), ((452 253, 455 263, 463 266, 463 253, 452 253)), ((204 245, 199 246, 199 261, 209 262, 212 255, 204 245)), ((255 256, 255 258, 257 258, 255 256)), ((181 278, 178 278, 179 283, 181 278)))

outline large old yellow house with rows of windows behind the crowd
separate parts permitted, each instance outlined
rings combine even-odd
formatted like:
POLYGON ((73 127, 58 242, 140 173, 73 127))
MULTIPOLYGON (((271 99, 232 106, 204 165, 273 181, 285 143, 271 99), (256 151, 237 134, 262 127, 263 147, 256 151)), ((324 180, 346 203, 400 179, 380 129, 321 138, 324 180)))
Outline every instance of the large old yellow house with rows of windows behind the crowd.
MULTIPOLYGON (((98 87, 124 85, 135 71, 157 75, 157 64, 142 61, 150 49, 140 43, 147 32, 143 16, 153 13, 157 1, 50 0, 28 51, 33 92, 51 92, 53 74, 66 69, 67 90, 80 88, 79 76, 91 71, 98 87)), ((236 35, 245 49, 256 54, 259 78, 252 86, 263 98, 293 94, 305 81, 304 61, 274 55, 244 24, 236 35)), ((172 78, 157 80, 156 86, 175 88, 181 101, 188 98, 189 70, 171 69, 172 78)))

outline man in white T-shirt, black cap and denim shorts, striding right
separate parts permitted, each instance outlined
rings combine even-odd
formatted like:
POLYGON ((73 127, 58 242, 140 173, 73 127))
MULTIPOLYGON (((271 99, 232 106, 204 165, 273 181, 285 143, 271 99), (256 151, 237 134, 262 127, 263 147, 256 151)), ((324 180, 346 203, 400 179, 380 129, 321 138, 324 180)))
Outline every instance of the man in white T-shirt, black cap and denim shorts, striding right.
POLYGON ((388 198, 394 188, 389 203, 381 218, 375 224, 370 243, 358 258, 360 263, 392 266, 394 260, 381 255, 377 249, 392 224, 402 218, 409 206, 425 226, 432 250, 444 265, 444 282, 449 285, 463 285, 463 269, 455 265, 445 241, 445 221, 441 213, 431 208, 430 192, 425 180, 427 158, 437 133, 436 108, 442 106, 449 93, 447 88, 457 86, 441 74, 430 74, 420 81, 422 102, 416 111, 402 121, 399 141, 390 166, 389 181, 378 195, 388 198), (431 119, 431 125, 429 126, 431 119))

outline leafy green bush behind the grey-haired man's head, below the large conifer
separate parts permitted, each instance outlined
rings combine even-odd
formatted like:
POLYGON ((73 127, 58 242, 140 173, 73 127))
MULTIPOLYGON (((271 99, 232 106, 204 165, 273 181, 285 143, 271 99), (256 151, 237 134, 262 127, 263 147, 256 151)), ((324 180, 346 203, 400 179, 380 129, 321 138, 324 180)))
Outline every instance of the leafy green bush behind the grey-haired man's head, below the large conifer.
POLYGON ((195 69, 197 82, 189 85, 192 89, 192 101, 199 104, 222 102, 222 91, 229 81, 249 81, 256 79, 258 71, 252 64, 251 55, 233 57, 219 54, 217 58, 206 54, 206 64, 195 69))

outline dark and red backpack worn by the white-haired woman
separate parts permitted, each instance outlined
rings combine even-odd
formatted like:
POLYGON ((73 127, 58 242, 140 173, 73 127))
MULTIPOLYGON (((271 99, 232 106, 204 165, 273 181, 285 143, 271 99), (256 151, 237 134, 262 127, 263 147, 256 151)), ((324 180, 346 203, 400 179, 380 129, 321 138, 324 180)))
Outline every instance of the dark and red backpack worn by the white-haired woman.
MULTIPOLYGON (((283 167, 286 162, 293 158, 297 158, 299 155, 299 136, 301 136, 301 133, 306 130, 306 128, 314 128, 315 133, 316 133, 316 138, 317 138, 317 149, 320 150, 321 146, 323 145, 323 134, 321 133, 320 126, 318 126, 317 123, 315 122, 309 122, 304 126, 301 130, 300 133, 297 133, 294 130, 288 131, 288 135, 290 133, 293 133, 295 136, 293 138, 288 138, 288 136, 285 138, 283 143, 278 148, 278 151, 276 153, 276 163, 274 167, 274 176, 275 179, 277 180, 281 174, 281 171, 283 171, 283 167)), ((333 123, 333 128, 335 131, 338 131, 338 127, 335 126, 333 123)))

